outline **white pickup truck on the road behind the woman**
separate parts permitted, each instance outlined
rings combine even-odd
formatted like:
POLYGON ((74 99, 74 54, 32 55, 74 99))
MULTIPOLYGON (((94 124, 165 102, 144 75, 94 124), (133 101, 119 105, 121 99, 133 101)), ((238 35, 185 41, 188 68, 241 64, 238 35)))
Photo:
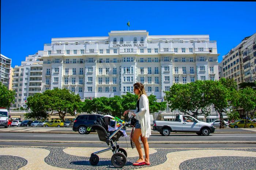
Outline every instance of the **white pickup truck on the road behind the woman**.
POLYGON ((215 131, 215 128, 210 123, 199 121, 192 116, 177 114, 175 121, 155 120, 153 131, 158 131, 163 136, 169 136, 170 132, 191 132, 208 136, 215 131))

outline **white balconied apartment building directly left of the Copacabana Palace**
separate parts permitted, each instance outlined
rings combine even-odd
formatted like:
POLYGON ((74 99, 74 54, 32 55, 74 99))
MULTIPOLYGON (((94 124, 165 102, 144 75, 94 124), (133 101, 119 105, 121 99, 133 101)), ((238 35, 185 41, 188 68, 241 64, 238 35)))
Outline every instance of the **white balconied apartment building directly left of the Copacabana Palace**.
POLYGON ((22 61, 20 66, 14 67, 12 89, 15 90, 16 95, 11 109, 26 108, 27 97, 41 92, 42 55, 43 51, 38 51, 26 57, 26 61, 22 61))

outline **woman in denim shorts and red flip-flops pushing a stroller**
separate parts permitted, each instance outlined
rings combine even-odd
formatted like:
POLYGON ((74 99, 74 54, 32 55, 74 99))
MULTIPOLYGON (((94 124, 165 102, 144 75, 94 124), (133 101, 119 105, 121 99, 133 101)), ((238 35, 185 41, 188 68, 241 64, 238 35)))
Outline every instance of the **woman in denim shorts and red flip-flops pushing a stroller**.
POLYGON ((133 85, 133 92, 138 95, 136 110, 124 111, 124 115, 126 115, 127 113, 131 113, 136 118, 135 130, 132 136, 132 140, 135 143, 137 151, 139 152, 139 159, 132 165, 150 165, 149 147, 147 142, 147 138, 151 135, 148 98, 144 86, 140 82, 137 82, 133 85), (142 154, 139 137, 144 146, 145 159, 142 154))

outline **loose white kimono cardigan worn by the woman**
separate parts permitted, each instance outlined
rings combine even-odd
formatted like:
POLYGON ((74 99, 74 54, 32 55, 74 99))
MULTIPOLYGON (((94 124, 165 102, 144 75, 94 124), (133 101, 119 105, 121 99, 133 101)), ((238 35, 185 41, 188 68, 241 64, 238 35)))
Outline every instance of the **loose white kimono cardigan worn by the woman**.
POLYGON ((148 105, 148 98, 145 94, 142 94, 140 96, 140 101, 139 101, 139 107, 140 110, 138 113, 137 106, 136 110, 129 110, 129 115, 131 112, 136 113, 136 119, 139 120, 139 123, 141 125, 141 134, 142 136, 148 138, 151 135, 151 125, 150 125, 150 117, 149 117, 149 105, 148 105))

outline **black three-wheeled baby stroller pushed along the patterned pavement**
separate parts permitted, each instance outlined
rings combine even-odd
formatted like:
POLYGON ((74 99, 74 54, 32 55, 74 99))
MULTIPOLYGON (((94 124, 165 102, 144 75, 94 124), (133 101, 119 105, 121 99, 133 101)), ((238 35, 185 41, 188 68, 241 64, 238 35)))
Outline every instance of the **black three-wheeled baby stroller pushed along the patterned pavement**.
POLYGON ((118 123, 120 123, 121 125, 115 131, 108 131, 108 125, 110 125, 110 117, 100 117, 94 122, 94 125, 91 126, 91 129, 95 130, 98 133, 99 140, 106 142, 109 148, 92 153, 90 157, 91 165, 98 164, 99 157, 97 154, 112 150, 112 165, 117 168, 125 166, 127 161, 127 152, 123 148, 119 148, 117 141, 121 136, 124 136, 123 132, 121 132, 120 130, 125 130, 125 124, 130 119, 132 119, 132 117, 133 116, 129 117, 129 119, 125 122, 119 121, 118 123))

